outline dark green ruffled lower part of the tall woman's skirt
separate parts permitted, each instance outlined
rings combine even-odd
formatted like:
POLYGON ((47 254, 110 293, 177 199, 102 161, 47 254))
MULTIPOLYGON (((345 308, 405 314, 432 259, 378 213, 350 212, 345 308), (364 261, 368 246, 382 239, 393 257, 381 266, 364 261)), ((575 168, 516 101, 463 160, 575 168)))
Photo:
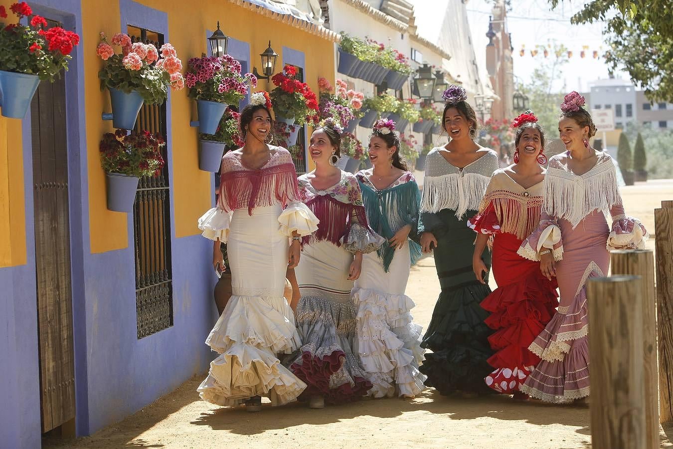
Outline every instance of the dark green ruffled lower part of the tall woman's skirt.
POLYGON ((441 394, 454 390, 492 392, 484 384, 485 376, 493 370, 487 362, 493 354, 488 341, 491 329, 484 323, 488 313, 478 299, 489 293, 487 285, 476 281, 439 293, 421 343, 433 352, 425 355, 421 372, 427 376, 425 384, 441 394))

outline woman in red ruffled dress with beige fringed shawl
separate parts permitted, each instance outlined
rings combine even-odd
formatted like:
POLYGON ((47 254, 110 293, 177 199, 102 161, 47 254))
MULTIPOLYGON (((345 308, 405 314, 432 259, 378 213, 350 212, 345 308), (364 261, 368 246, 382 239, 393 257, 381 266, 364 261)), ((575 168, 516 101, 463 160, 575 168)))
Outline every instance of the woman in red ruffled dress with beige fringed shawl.
POLYGON ((540 221, 546 164, 544 133, 532 112, 512 122, 516 127, 514 164, 496 170, 486 195, 468 226, 479 233, 474 245, 472 268, 476 279, 484 282, 488 268, 481 254, 493 236, 493 276, 498 288, 481 302, 491 312, 486 324, 495 329, 489 343, 495 353, 488 359, 495 368, 486 384, 516 401, 528 401, 519 391, 540 361, 528 345, 542 332, 558 305, 556 281, 540 272, 540 263, 517 254, 526 236, 540 221))

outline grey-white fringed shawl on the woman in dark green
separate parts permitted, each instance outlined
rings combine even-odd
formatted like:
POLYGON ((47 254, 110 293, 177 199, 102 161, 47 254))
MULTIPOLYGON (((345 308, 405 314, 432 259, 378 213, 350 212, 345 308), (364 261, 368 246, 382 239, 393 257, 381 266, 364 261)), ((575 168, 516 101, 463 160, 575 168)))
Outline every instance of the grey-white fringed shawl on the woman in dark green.
POLYGON ((421 211, 437 213, 451 209, 462 219, 466 211, 478 210, 491 174, 498 168, 497 161, 497 154, 491 150, 459 169, 449 164, 437 148, 433 149, 425 162, 421 211))

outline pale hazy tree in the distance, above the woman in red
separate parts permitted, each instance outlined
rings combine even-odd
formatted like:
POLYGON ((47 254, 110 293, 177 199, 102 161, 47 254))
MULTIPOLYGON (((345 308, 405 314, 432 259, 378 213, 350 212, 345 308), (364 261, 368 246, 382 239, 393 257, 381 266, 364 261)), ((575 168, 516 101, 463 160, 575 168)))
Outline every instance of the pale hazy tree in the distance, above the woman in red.
POLYGON ((531 82, 520 85, 519 90, 528 96, 528 107, 538 117, 538 123, 544 129, 547 140, 559 138, 559 106, 565 92, 553 89, 553 83, 559 78, 563 66, 568 63, 567 48, 563 44, 551 42, 548 46, 538 46, 538 52, 547 51, 548 57, 541 58, 533 71, 531 82))

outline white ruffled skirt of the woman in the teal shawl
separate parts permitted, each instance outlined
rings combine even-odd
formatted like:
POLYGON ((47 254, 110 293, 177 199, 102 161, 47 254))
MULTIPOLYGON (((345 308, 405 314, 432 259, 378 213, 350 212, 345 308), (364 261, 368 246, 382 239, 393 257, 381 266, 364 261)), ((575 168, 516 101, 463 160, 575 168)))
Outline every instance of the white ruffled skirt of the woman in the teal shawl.
POLYGON ((376 252, 364 254, 352 296, 357 307, 359 355, 374 397, 416 396, 425 386, 421 331, 414 302, 404 294, 409 280, 409 242, 396 250, 388 273, 376 252))

